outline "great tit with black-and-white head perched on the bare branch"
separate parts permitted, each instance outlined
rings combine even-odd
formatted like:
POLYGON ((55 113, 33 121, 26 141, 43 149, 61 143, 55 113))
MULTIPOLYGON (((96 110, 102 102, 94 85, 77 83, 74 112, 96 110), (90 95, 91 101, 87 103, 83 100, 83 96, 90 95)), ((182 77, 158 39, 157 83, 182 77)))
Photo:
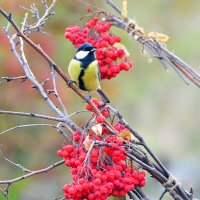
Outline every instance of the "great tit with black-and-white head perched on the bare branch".
POLYGON ((89 91, 86 98, 90 98, 90 91, 96 91, 104 103, 110 103, 100 87, 100 70, 95 51, 96 48, 91 44, 82 44, 69 63, 68 72, 71 80, 81 90, 89 91))

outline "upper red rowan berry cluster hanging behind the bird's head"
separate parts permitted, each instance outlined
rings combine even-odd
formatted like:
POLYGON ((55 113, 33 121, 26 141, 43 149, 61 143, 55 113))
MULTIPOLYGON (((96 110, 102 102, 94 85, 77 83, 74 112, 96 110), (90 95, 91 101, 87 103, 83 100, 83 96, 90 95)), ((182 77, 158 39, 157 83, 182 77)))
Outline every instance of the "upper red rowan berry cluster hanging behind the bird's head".
POLYGON ((132 67, 125 46, 120 44, 121 37, 111 32, 111 25, 110 22, 95 17, 84 28, 73 26, 65 30, 65 37, 76 47, 88 42, 97 48, 96 57, 102 79, 116 77, 120 71, 128 71, 132 67))

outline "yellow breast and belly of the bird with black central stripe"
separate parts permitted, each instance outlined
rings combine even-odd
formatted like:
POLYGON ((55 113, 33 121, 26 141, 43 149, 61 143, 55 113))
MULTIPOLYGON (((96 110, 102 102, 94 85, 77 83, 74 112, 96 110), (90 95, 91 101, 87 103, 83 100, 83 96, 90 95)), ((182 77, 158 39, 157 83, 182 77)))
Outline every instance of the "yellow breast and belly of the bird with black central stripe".
POLYGON ((99 68, 97 60, 91 62, 87 67, 81 67, 81 62, 72 59, 69 68, 69 75, 78 87, 82 90, 94 91, 99 87, 99 68))

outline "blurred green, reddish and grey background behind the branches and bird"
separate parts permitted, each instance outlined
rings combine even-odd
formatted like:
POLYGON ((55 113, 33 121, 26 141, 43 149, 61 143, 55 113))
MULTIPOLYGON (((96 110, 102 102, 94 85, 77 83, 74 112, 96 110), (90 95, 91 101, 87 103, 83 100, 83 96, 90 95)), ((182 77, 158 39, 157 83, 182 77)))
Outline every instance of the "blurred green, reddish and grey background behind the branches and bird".
MULTIPOLYGON (((0 5, 13 13, 20 24, 25 10, 35 3, 42 12, 39 0, 1 0, 0 5)), ((120 5, 121 1, 116 3, 120 5)), ((104 1, 97 6, 113 12, 104 1)), ((45 26, 48 34, 34 33, 32 39, 40 44, 55 62, 67 71, 67 64, 75 48, 63 35, 67 26, 81 25, 80 17, 86 14, 86 6, 78 0, 58 1, 56 15, 45 26)), ((129 16, 147 32, 157 31, 170 36, 167 47, 200 72, 200 1, 199 0, 150 0, 129 1, 129 16)), ((9 43, 2 27, 6 21, 0 16, 0 77, 23 75, 21 66, 11 54, 9 43)), ((122 72, 115 79, 102 81, 102 88, 109 94, 112 105, 119 109, 127 121, 144 137, 147 144, 189 190, 192 186, 200 198, 200 92, 199 88, 187 86, 173 70, 166 72, 154 60, 148 63, 140 53, 141 46, 132 41, 123 31, 113 28, 122 36, 122 43, 131 53, 134 67, 122 72)), ((26 46, 29 64, 39 81, 49 77, 48 65, 30 47, 26 46)), ((59 94, 68 112, 84 109, 84 103, 58 79, 59 94)), ((51 85, 46 86, 47 88, 51 85)), ((0 84, 0 109, 35 112, 53 115, 40 95, 28 81, 0 84)), ((84 115, 74 118, 82 124, 84 115)), ((25 117, 0 116, 0 132, 13 126, 43 123, 41 120, 25 117)), ((63 138, 47 127, 23 128, 0 134, 0 149, 5 157, 24 167, 36 170, 59 160, 56 151, 63 138)), ((0 180, 22 175, 20 169, 6 162, 0 156, 0 180)), ((70 182, 70 174, 61 166, 48 174, 38 175, 10 188, 12 200, 53 199, 62 195, 62 187, 70 182)), ((2 186, 0 186, 2 188, 2 186)), ((145 188, 152 199, 158 199, 163 189, 152 178, 145 188)), ((4 199, 0 193, 0 199, 4 199)), ((164 199, 171 199, 165 196, 164 199)))

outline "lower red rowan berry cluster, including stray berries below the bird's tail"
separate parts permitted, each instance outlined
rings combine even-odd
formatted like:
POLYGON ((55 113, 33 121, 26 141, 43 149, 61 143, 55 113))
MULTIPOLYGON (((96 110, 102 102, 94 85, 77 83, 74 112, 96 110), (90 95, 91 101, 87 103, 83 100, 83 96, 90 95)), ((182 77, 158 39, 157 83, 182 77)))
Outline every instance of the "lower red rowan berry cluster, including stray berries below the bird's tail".
MULTIPOLYGON (((102 102, 92 99, 97 107, 102 102)), ((92 111, 89 104, 86 108, 92 111)), ((110 116, 107 107, 102 110, 105 118, 110 116)), ((113 124, 120 134, 127 128, 120 122, 113 124)), ((126 141, 127 142, 127 141, 126 141)), ((71 167, 71 184, 63 187, 67 199, 74 200, 106 200, 109 196, 125 196, 136 186, 145 185, 145 172, 139 171, 126 156, 125 141, 119 135, 112 135, 103 127, 101 134, 92 129, 84 138, 80 133, 73 133, 73 145, 64 145, 57 155, 65 159, 65 164, 71 167)))

